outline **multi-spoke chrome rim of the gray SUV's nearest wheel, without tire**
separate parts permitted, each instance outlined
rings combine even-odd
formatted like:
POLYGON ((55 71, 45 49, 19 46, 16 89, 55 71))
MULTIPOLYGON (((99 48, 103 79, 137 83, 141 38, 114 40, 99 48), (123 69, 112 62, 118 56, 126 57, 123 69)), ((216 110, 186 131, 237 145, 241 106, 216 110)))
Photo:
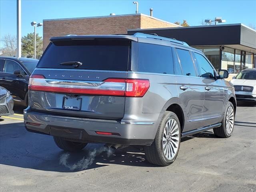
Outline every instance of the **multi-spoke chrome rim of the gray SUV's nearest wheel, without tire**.
POLYGON ((179 147, 180 142, 180 129, 178 127, 177 121, 172 118, 166 122, 164 128, 164 134, 162 139, 162 147, 164 151, 164 156, 168 160, 172 160, 179 147))

